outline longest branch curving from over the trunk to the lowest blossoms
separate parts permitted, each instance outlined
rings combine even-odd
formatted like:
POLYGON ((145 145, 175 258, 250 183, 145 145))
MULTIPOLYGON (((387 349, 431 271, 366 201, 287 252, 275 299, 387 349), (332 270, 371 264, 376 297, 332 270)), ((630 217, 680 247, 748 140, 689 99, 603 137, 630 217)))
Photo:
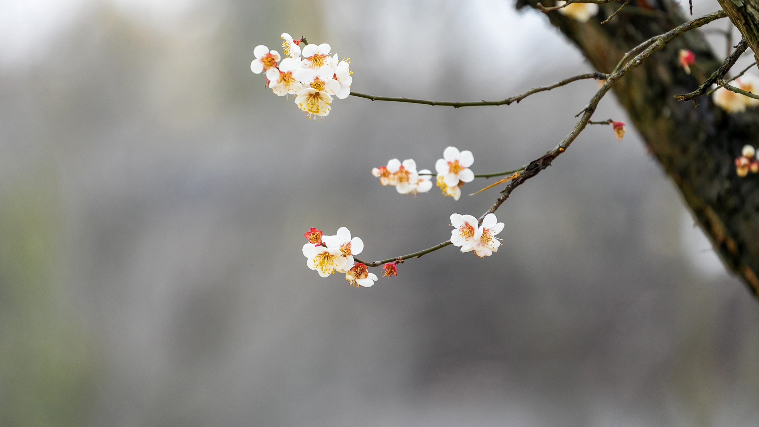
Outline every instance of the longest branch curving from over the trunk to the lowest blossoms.
MULTIPOLYGON (((482 216, 479 218, 479 223, 482 224, 483 219, 487 216, 488 213, 494 213, 498 208, 503 204, 503 202, 506 201, 506 199, 509 198, 509 196, 512 194, 512 191, 514 191, 515 188, 517 188, 519 185, 524 184, 525 181, 528 179, 531 179, 533 176, 536 176, 538 173, 540 173, 541 170, 546 169, 548 166, 551 166, 551 162, 556 159, 556 157, 559 157, 561 153, 563 153, 570 144, 572 144, 573 141, 578 137, 578 135, 581 133, 581 131, 584 130, 585 126, 591 122, 591 117, 593 116, 593 113, 596 111, 596 107, 598 106, 598 103, 600 102, 601 98, 603 98, 604 95, 606 95, 609 90, 611 90, 611 87, 616 81, 618 81, 620 78, 624 77, 626 74, 628 74, 633 68, 638 67, 638 65, 641 65, 642 62, 644 62, 650 55, 653 54, 653 52, 657 52, 659 49, 662 49, 664 46, 666 46, 667 43, 671 42, 673 39, 675 39, 677 36, 681 35, 682 33, 685 33, 687 31, 693 30, 695 28, 701 27, 705 24, 710 23, 711 21, 715 21, 717 19, 726 17, 727 14, 725 11, 716 11, 710 14, 707 14, 703 17, 699 17, 697 19, 694 19, 692 21, 688 21, 685 24, 680 25, 679 27, 676 27, 672 30, 669 30, 666 33, 663 33, 659 36, 652 37, 651 40, 653 40, 651 43, 647 43, 648 46, 643 52, 638 54, 635 59, 632 59, 630 62, 628 62, 627 65, 619 69, 618 71, 613 72, 612 74, 609 74, 606 78, 606 82, 604 82, 603 86, 600 87, 600 89, 594 94, 594 96, 591 98, 591 102, 588 103, 587 107, 584 109, 584 114, 582 115, 581 119, 578 120, 578 122, 575 124, 575 127, 572 128, 572 131, 567 134, 567 136, 564 137, 561 143, 557 145, 553 150, 549 150, 547 153, 543 154, 543 156, 537 158, 536 160, 533 160, 528 166, 526 166, 524 169, 522 169, 521 174, 512 180, 512 182, 509 182, 509 185, 506 185, 506 187, 501 191, 501 196, 496 199, 496 203, 493 204, 493 206, 490 207, 485 213, 482 214, 482 216)), ((645 43, 645 42, 644 42, 645 43)), ((636 48, 637 49, 637 48, 636 48)), ((619 68, 619 67, 618 67, 619 68)), ((726 87, 731 87, 729 84, 726 84, 725 81, 721 80, 717 83, 723 84, 726 87)), ((740 90, 735 88, 736 90, 740 90)), ((740 90, 739 93, 747 94, 745 90, 740 90)), ((748 93, 746 96, 756 97, 759 99, 759 96, 754 95, 753 93, 748 93)), ((403 255, 402 257, 396 257, 396 258, 388 258, 386 260, 382 261, 375 261, 375 262, 364 262, 360 261, 357 258, 354 257, 355 261, 357 262, 363 262, 367 267, 379 267, 382 264, 396 261, 396 260, 406 260, 408 258, 419 258, 422 255, 429 254, 432 251, 436 251, 439 248, 445 248, 446 246, 451 245, 451 241, 442 242, 439 245, 435 245, 432 248, 424 249, 424 251, 418 251, 414 252, 413 254, 409 255, 403 255)))

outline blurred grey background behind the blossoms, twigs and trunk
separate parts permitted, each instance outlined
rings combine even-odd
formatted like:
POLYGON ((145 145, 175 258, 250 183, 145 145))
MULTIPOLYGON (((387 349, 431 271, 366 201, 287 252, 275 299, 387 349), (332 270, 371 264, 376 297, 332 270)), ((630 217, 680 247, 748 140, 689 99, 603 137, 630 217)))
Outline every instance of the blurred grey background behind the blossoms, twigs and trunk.
POLYGON ((402 196, 373 166, 448 145, 521 166, 597 84, 351 96, 314 122, 250 72, 283 31, 377 95, 590 71, 510 0, 0 2, 0 425, 759 423, 757 301, 633 128, 588 128, 518 188, 490 258, 446 248, 362 289, 309 270, 310 226, 389 258, 499 191, 402 196))

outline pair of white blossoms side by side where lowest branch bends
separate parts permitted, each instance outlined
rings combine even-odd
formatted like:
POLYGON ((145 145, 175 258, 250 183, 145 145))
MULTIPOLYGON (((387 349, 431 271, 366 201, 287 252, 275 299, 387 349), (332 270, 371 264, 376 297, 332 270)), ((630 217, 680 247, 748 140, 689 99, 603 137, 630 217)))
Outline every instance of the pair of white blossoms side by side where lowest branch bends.
POLYGON ((477 218, 471 215, 451 215, 451 243, 461 248, 462 252, 474 251, 480 258, 489 257, 498 251, 501 245, 496 234, 503 229, 495 213, 488 213, 478 225, 477 218))

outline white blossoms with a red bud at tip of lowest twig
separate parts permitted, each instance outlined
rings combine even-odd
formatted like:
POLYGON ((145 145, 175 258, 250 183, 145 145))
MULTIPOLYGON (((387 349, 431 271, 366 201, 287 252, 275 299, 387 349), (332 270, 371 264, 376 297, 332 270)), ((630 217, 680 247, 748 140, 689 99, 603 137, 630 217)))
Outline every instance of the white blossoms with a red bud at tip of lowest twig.
POLYGON ((364 250, 364 241, 360 237, 351 239, 351 230, 340 227, 335 236, 323 236, 319 229, 311 228, 304 233, 308 243, 303 245, 306 265, 317 270, 321 277, 332 273, 345 273, 345 280, 351 286, 369 287, 376 282, 375 274, 367 270, 361 262, 354 262, 353 255, 364 250))

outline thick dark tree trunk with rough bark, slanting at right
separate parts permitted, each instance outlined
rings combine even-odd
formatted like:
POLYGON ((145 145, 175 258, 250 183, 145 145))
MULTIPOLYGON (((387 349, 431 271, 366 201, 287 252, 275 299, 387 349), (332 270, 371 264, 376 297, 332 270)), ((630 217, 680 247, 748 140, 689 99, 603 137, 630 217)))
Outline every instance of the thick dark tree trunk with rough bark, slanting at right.
MULTIPOLYGON (((535 8, 537 2, 518 0, 517 7, 535 8)), ((550 0, 543 2, 546 3, 553 5, 550 0)), ((600 13, 586 24, 558 11, 546 16, 603 73, 612 71, 625 52, 639 43, 687 21, 671 0, 656 4, 653 0, 638 0, 638 6, 631 8, 637 13, 622 11, 601 25, 616 8, 618 4, 602 5, 600 13)), ((707 96, 698 100, 699 108, 673 97, 695 90, 722 62, 723 58, 718 58, 707 45, 703 33, 694 30, 652 55, 619 81, 613 91, 650 152, 676 182, 715 251, 757 296, 759 176, 739 178, 733 162, 745 144, 759 144, 759 108, 727 114, 707 96), (678 66, 679 49, 690 49, 696 56, 690 75, 678 66)))

